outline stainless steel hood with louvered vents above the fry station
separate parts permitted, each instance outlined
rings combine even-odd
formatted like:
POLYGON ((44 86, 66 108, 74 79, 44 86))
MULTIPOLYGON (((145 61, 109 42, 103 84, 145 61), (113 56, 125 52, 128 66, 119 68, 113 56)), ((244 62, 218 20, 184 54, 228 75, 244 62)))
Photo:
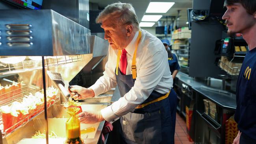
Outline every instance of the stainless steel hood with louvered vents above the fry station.
POLYGON ((0 55, 90 54, 90 30, 53 10, 0 10, 0 55))

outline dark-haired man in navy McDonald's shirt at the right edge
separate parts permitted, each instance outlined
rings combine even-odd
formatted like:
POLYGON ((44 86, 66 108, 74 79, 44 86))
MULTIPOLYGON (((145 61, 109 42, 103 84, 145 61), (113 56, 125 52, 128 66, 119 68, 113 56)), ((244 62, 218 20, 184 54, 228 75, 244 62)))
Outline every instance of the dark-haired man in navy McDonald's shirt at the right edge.
POLYGON ((236 86, 235 120, 239 132, 233 144, 256 144, 256 0, 225 0, 228 34, 241 33, 249 46, 236 86))

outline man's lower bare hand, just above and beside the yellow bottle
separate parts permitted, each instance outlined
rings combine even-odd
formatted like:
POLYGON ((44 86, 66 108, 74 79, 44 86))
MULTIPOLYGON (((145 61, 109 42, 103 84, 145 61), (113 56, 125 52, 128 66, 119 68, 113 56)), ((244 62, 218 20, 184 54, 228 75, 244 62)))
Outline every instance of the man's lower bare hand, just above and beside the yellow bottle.
POLYGON ((80 122, 85 124, 94 124, 104 120, 100 111, 83 111, 82 113, 79 113, 77 116, 80 122))

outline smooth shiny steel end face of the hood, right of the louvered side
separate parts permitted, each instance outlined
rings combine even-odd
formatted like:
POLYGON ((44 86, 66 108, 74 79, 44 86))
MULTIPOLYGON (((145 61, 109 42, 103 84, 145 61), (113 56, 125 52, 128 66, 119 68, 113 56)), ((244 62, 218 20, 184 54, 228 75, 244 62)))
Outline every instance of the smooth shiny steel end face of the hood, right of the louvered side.
POLYGON ((53 55, 89 54, 89 29, 55 11, 51 13, 53 55))

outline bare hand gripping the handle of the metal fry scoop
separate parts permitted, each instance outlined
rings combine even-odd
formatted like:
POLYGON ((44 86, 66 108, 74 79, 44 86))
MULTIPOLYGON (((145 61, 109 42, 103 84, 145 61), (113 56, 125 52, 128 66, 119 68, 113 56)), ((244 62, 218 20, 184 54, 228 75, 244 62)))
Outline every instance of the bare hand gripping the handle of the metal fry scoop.
POLYGON ((74 98, 74 100, 84 100, 86 98, 91 98, 95 96, 95 93, 92 89, 86 89, 85 87, 81 87, 78 85, 72 85, 71 87, 72 88, 70 89, 70 95, 71 98, 74 98), (74 92, 77 92, 79 96, 74 92))

